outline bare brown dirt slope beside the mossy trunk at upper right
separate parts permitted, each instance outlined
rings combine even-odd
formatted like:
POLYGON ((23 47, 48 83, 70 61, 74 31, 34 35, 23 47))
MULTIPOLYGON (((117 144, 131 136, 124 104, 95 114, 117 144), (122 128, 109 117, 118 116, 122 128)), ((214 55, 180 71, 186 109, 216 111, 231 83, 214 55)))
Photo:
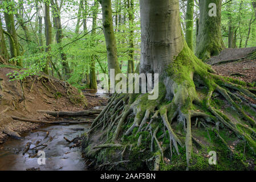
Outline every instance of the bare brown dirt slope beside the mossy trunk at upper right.
POLYGON ((211 57, 209 61, 206 61, 206 63, 214 65, 218 63, 229 62, 232 60, 242 60, 254 51, 256 51, 256 47, 239 49, 226 48, 224 49, 224 51, 221 51, 220 55, 211 57))

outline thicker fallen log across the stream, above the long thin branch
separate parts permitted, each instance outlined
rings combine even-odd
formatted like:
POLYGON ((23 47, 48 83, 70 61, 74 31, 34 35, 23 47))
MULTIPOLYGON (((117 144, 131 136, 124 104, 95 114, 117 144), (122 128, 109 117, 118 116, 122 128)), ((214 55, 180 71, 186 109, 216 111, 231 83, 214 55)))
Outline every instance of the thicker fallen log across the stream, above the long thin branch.
POLYGON ((94 114, 100 114, 100 109, 83 110, 83 111, 50 111, 50 110, 37 110, 38 113, 46 113, 54 117, 63 116, 88 116, 94 114))

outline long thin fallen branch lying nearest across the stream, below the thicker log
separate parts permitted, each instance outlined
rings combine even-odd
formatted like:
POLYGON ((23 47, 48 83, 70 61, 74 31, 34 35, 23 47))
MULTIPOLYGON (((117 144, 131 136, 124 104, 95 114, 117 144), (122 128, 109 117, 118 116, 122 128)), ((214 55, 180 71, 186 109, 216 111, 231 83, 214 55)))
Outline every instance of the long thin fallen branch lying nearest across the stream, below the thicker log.
POLYGON ((26 119, 19 118, 15 116, 11 116, 11 118, 19 121, 31 122, 31 123, 42 123, 42 124, 50 124, 50 125, 59 125, 59 124, 80 124, 80 123, 92 123, 91 121, 40 121, 35 119, 26 119))

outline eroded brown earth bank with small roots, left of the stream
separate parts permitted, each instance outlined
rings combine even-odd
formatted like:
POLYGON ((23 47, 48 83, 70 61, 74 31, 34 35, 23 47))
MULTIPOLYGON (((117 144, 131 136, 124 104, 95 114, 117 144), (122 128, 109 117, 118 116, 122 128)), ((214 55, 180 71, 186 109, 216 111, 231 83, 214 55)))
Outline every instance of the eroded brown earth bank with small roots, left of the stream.
POLYGON ((7 138, 3 132, 6 128, 21 134, 39 127, 36 123, 15 121, 11 116, 52 120, 54 118, 50 115, 36 110, 80 111, 103 106, 107 102, 104 98, 88 94, 82 97, 82 92, 53 77, 30 76, 22 82, 10 81, 7 73, 13 71, 0 68, 0 144, 7 138))

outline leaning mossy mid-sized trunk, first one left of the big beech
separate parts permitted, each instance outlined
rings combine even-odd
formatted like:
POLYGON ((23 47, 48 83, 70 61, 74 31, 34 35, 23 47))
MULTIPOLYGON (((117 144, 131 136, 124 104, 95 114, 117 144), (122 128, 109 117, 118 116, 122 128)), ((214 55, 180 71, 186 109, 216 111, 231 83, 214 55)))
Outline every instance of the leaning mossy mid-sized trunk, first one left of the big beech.
POLYGON ((117 59, 117 47, 113 30, 111 0, 101 0, 100 4, 102 7, 103 32, 107 48, 108 74, 110 74, 110 69, 115 69, 116 75, 117 73, 121 73, 121 70, 117 59))

